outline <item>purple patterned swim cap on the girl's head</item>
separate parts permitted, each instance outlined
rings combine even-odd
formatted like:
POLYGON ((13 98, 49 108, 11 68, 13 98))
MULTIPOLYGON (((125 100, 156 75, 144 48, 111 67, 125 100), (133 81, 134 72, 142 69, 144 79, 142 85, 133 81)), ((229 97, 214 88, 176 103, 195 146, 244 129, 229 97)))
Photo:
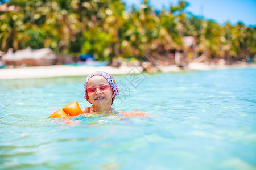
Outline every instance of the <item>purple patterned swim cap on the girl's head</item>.
POLYGON ((92 78, 95 75, 100 75, 103 76, 106 80, 108 80, 109 85, 112 87, 113 91, 114 91, 114 97, 112 102, 115 100, 115 96, 117 96, 119 94, 118 88, 117 88, 117 83, 115 83, 115 80, 113 78, 113 76, 109 75, 108 73, 106 73, 105 71, 96 71, 90 75, 87 76, 85 83, 84 83, 84 98, 87 99, 87 83, 89 81, 90 78, 92 78))

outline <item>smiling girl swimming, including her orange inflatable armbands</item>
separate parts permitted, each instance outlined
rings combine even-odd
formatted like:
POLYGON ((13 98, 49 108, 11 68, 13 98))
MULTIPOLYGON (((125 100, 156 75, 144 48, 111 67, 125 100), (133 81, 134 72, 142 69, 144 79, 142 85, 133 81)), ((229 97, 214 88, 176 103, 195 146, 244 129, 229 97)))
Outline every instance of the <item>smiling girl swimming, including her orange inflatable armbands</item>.
POLYGON ((100 113, 117 113, 125 117, 148 116, 137 110, 116 112, 111 106, 118 94, 117 83, 115 83, 113 76, 104 71, 96 71, 88 75, 84 84, 84 97, 92 104, 92 107, 80 108, 77 101, 74 101, 54 112, 49 118, 78 116, 83 113, 89 113, 88 116, 100 113))

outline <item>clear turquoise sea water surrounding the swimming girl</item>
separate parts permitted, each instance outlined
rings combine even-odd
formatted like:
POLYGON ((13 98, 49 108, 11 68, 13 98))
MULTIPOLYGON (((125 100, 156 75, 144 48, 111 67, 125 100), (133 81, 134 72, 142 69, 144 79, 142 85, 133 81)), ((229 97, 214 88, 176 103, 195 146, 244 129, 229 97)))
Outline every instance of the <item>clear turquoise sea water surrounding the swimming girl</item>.
POLYGON ((85 77, 0 81, 0 169, 256 169, 256 69, 114 75, 118 111, 47 118, 85 77))

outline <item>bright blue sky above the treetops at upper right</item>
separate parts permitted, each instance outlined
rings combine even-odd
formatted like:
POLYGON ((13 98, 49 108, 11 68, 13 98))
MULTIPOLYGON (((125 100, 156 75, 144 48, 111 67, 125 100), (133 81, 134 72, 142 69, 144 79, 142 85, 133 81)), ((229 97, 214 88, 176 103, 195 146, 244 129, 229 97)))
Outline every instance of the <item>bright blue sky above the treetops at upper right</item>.
MULTIPOLYGON (((139 5, 143 0, 122 0, 126 5, 139 5)), ((177 5, 179 0, 150 0, 150 5, 156 9, 177 5)), ((238 21, 245 25, 256 25, 256 0, 187 0, 189 6, 186 11, 194 15, 201 15, 205 19, 212 19, 219 24, 238 21)))

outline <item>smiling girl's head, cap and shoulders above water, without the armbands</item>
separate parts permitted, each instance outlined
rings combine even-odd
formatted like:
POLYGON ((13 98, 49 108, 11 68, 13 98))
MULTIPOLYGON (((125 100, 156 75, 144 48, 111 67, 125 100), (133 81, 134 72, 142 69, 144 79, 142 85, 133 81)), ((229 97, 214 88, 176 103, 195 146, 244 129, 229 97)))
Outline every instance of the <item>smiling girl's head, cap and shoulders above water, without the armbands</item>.
POLYGON ((104 71, 96 71, 88 75, 84 84, 84 98, 92 107, 84 107, 82 112, 113 113, 115 111, 111 106, 118 94, 113 76, 104 71))

